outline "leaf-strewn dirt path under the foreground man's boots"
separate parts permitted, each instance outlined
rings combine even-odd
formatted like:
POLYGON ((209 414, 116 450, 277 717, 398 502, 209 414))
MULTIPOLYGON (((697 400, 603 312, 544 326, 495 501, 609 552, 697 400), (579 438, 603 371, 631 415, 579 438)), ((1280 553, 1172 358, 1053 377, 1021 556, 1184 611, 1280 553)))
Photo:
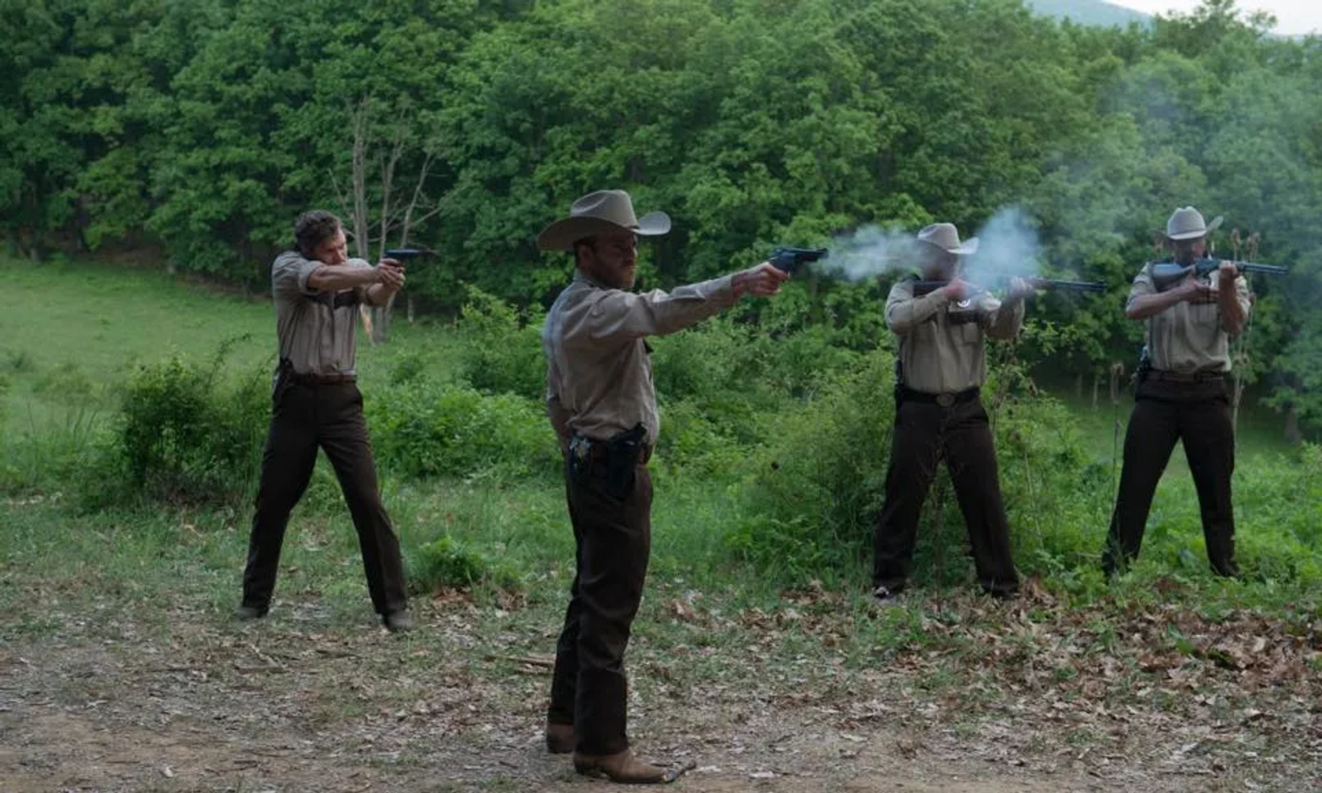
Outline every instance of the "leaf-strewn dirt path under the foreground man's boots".
MULTIPOLYGON (((251 626, 208 611, 176 612, 168 628, 100 612, 61 615, 58 632, 11 632, 0 649, 0 790, 608 789, 545 753, 546 667, 484 653, 500 637, 479 633, 472 611, 423 604, 407 638, 325 630, 312 605, 251 626)), ((632 652, 631 723, 644 756, 694 765, 683 790, 1322 784, 1322 732, 1282 763, 1218 720, 1043 714, 1014 700, 973 715, 916 694, 911 670, 776 678, 734 657, 691 685, 673 654, 645 641, 632 652)))

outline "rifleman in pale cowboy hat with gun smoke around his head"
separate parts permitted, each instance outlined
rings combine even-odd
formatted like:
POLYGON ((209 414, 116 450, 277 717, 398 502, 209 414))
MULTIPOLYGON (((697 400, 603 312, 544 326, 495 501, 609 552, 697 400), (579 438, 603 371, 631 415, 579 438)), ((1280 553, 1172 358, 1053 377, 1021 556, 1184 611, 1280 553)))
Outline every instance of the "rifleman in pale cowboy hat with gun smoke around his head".
POLYGON ((923 501, 943 457, 978 583, 998 597, 1019 587, 980 389, 986 379, 985 337, 1013 338, 1032 289, 1011 279, 1002 303, 965 282, 961 258, 977 248, 976 237, 961 243, 951 223, 927 226, 916 245, 923 278, 949 283, 916 297, 916 279, 902 279, 886 300, 886 324, 899 337, 899 350, 886 504, 874 534, 873 596, 879 603, 894 603, 908 582, 923 501))

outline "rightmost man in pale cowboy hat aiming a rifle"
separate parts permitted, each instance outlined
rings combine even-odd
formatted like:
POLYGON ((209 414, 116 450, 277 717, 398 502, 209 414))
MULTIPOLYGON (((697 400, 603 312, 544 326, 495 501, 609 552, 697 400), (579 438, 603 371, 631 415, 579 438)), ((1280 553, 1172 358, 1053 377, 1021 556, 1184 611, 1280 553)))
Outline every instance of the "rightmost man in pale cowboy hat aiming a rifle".
MULTIPOLYGON (((1220 223, 1222 218, 1204 223, 1192 206, 1177 209, 1166 222, 1174 262, 1187 267, 1206 256, 1207 234, 1220 223)), ((1249 309, 1248 282, 1231 262, 1222 262, 1215 278, 1198 278, 1191 271, 1165 291, 1153 283, 1150 263, 1134 278, 1125 316, 1147 324, 1147 346, 1103 554, 1108 576, 1138 556, 1153 494, 1177 440, 1183 441, 1194 474, 1212 570, 1224 576, 1239 574, 1231 505, 1235 427, 1229 340, 1244 329, 1249 309)))

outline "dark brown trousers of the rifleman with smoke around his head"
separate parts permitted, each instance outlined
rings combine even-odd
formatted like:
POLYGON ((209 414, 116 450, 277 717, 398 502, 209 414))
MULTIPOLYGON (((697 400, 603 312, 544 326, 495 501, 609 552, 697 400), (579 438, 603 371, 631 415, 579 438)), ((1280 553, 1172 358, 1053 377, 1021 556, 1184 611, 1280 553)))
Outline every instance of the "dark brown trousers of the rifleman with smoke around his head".
POLYGON ((914 563, 917 522, 941 459, 969 531, 978 583, 990 593, 1018 589, 1010 526, 1001 502, 995 445, 978 398, 943 407, 904 398, 895 411, 886 505, 876 523, 873 585, 904 588, 914 563))

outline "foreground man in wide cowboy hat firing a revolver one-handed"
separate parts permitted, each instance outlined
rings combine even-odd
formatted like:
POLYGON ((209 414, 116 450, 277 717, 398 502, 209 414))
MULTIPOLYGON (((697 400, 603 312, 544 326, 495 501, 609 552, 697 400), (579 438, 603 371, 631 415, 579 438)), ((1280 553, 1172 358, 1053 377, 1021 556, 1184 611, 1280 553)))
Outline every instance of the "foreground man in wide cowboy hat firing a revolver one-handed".
POLYGON ((566 456, 576 574, 555 653, 546 745, 574 752, 579 773, 619 782, 664 782, 662 768, 629 749, 624 650, 642 597, 652 542, 657 439, 646 336, 682 330, 743 295, 773 295, 788 278, 761 264, 666 293, 636 293, 639 237, 670 230, 641 218, 624 190, 583 196, 542 230, 543 251, 570 251, 576 272, 546 315, 547 412, 566 456))

